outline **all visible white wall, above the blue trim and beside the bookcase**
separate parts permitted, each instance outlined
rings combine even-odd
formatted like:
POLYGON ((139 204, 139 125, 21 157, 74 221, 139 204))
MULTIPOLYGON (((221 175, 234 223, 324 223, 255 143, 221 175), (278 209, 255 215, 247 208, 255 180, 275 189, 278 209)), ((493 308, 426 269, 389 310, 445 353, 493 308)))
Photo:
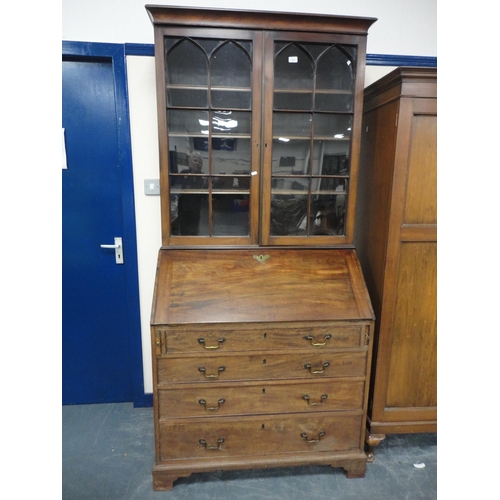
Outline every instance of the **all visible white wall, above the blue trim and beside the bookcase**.
MULTIPOLYGON (((368 53, 436 56, 437 0, 253 0, 237 9, 308 12, 376 17, 370 28, 368 53), (307 5, 307 9, 304 7, 307 5)), ((155 3, 154 1, 151 3, 155 3)), ((158 4, 164 4, 159 2, 158 4)), ((233 9, 234 0, 187 2, 175 5, 233 9)), ((62 38, 106 43, 153 43, 153 28, 141 0, 63 0, 62 38)), ((392 68, 369 66, 365 84, 392 68)), ((139 293, 145 392, 152 392, 149 320, 156 259, 161 245, 159 196, 144 194, 144 180, 159 177, 153 57, 128 56, 130 126, 138 242, 139 293)))

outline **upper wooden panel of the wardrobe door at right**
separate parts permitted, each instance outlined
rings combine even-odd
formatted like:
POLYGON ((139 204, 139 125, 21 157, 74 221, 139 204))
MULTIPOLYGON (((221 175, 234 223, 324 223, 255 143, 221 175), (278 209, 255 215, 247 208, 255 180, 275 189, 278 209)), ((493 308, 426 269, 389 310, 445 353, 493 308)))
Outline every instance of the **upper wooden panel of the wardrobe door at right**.
POLYGON ((436 116, 413 117, 410 151, 404 224, 436 224, 436 116))

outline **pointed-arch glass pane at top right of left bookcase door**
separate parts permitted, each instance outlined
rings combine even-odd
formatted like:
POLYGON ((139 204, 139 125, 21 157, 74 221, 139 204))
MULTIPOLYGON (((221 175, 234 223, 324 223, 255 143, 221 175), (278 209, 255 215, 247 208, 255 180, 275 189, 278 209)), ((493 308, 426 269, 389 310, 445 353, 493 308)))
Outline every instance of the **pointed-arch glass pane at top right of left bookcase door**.
POLYGON ((228 42, 212 54, 210 60, 211 87, 250 88, 252 65, 243 48, 228 42))

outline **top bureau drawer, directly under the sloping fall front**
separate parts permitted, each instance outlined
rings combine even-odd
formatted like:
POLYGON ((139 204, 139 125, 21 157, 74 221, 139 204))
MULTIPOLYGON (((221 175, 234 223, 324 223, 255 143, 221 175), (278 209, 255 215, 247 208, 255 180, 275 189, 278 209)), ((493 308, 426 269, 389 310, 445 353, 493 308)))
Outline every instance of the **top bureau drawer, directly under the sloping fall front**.
POLYGON ((267 349, 346 349, 365 344, 365 325, 327 325, 297 328, 169 329, 156 330, 156 354, 213 354, 267 349))

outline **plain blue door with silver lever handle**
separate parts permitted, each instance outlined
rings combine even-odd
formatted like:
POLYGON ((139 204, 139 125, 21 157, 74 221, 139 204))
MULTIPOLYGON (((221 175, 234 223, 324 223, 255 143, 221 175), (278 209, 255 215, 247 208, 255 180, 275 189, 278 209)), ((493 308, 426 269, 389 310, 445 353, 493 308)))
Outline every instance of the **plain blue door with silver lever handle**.
POLYGON ((63 404, 141 405, 144 397, 130 143, 118 116, 125 93, 118 95, 116 60, 63 50, 63 404), (123 263, 102 247, 115 238, 123 263))

